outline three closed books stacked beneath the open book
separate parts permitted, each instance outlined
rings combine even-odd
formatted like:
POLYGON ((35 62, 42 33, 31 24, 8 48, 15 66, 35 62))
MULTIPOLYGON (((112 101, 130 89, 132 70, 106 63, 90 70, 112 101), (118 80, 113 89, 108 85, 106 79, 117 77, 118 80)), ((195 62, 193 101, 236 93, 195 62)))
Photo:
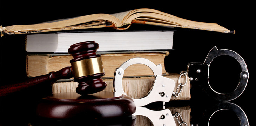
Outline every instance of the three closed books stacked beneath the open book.
MULTIPOLYGON (((73 59, 67 53, 70 45, 95 41, 99 43, 98 54, 101 54, 107 83, 105 91, 114 92, 113 77, 115 69, 131 58, 141 57, 162 65, 162 76, 178 83, 178 74, 170 74, 165 70, 164 59, 172 50, 174 31, 104 31, 104 32, 65 32, 27 35, 27 76, 35 77, 58 71, 71 66, 73 59)), ((185 81, 184 78, 183 82, 185 81)), ((124 72, 122 85, 126 94, 132 98, 142 98, 154 82, 152 70, 143 64, 129 66, 124 72)), ((58 80, 52 84, 53 93, 74 92, 78 83, 73 78, 58 80)), ((177 84, 178 85, 178 84, 177 84)), ((183 88, 185 90, 186 88, 183 88)), ((189 86, 181 96, 172 100, 189 100, 189 86)))

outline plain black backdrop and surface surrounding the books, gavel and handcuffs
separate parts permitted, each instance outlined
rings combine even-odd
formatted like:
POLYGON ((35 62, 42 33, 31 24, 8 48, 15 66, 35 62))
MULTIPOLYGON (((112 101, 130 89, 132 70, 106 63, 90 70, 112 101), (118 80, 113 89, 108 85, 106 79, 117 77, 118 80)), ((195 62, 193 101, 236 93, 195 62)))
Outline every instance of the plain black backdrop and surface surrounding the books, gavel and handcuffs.
MULTIPOLYGON (((238 98, 229 101, 235 104, 237 109, 243 110, 251 126, 255 124, 255 68, 254 57, 254 20, 253 7, 245 1, 222 3, 218 1, 203 3, 184 1, 174 3, 138 3, 129 1, 127 5, 118 2, 82 2, 81 1, 1 1, 0 16, 2 26, 15 24, 33 24, 45 21, 71 18, 76 16, 94 13, 116 13, 136 8, 153 8, 173 14, 175 16, 209 23, 218 23, 225 28, 235 30, 235 34, 216 33, 195 29, 175 28, 174 51, 166 58, 166 70, 179 73, 187 69, 190 62, 204 62, 209 50, 216 46, 218 49, 230 49, 241 55, 247 64, 250 74, 246 89, 238 98), (100 6, 99 6, 99 5, 100 6), (129 6, 130 7, 129 7, 129 6)), ((131 27, 132 28, 132 27, 131 27)), ((1 85, 16 83, 27 78, 26 76, 26 52, 24 49, 25 36, 15 35, 1 37, 1 85)), ((239 81, 241 68, 236 61, 227 57, 217 58, 210 67, 210 84, 218 92, 230 92, 234 90, 239 81)), ((113 70, 114 71, 114 70, 113 70)), ((198 88, 200 86, 191 83, 191 99, 189 101, 170 101, 165 108, 180 108, 187 106, 191 109, 190 123, 193 126, 204 126, 209 121, 209 115, 220 106, 218 102, 209 98, 198 88)), ((73 124, 73 120, 48 120, 35 116, 35 106, 38 101, 47 96, 50 91, 50 84, 39 85, 18 92, 8 97, 1 97, 1 125, 66 125, 73 124)), ((146 106, 152 110, 163 109, 162 103, 157 102, 146 106)), ((174 114, 174 113, 172 113, 174 114)), ((210 126, 232 125, 240 126, 239 116, 230 110, 215 112, 210 119, 210 126)), ((86 124, 92 125, 134 125, 134 117, 120 120, 86 120, 86 124), (104 123, 103 123, 104 122, 104 123), (105 123, 106 122, 106 123, 105 123), (96 123, 96 124, 94 124, 96 123), (121 123, 121 124, 120 124, 121 123), (125 124, 128 123, 128 124, 125 124)), ((138 119, 138 118, 137 118, 138 119)), ((243 118, 244 119, 244 118, 243 118)), ((144 121, 144 124, 150 121, 144 121)), ((77 122, 84 124, 85 122, 77 122)), ((138 125, 138 123, 137 123, 138 125)), ((136 125, 136 126, 137 126, 136 125)), ((188 124, 190 125, 190 124, 188 124)), ((245 126, 245 125, 244 125, 245 126)))

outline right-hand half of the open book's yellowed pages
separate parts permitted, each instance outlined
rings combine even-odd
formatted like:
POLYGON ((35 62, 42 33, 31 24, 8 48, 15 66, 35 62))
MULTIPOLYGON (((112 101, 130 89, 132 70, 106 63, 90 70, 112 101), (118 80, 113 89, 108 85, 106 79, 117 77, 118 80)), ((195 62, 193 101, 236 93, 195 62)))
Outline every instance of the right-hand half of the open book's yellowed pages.
POLYGON ((130 12, 126 18, 126 23, 131 22, 132 20, 147 21, 146 24, 152 25, 163 25, 163 26, 174 26, 182 28, 193 28, 200 30, 209 30, 209 31, 220 31, 220 32, 230 32, 228 29, 216 24, 216 23, 205 23, 191 21, 177 16, 164 13, 154 9, 136 9, 130 12), (140 13, 138 13, 140 12, 140 13))

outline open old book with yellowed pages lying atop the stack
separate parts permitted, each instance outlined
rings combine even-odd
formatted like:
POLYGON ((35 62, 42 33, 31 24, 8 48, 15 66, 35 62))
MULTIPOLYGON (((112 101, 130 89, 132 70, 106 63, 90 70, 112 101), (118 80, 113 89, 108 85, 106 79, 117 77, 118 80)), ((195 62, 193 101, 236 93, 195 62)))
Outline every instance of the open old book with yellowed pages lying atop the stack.
POLYGON ((170 26, 200 29, 230 33, 230 31, 216 23, 204 23, 186 20, 154 9, 135 9, 116 14, 92 14, 75 18, 55 20, 32 25, 12 25, 2 27, 2 32, 7 34, 28 34, 48 31, 63 31, 73 29, 103 28, 112 27, 117 30, 126 30, 131 24, 149 24, 158 26, 170 26))

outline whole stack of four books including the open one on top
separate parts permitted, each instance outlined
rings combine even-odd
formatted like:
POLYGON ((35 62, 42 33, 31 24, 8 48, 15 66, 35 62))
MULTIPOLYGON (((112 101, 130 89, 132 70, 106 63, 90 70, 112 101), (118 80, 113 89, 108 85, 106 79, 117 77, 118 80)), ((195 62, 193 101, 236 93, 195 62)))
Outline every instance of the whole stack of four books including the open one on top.
MULTIPOLYGON (((177 80, 179 75, 168 73, 164 65, 164 58, 172 49, 173 31, 159 31, 159 29, 133 31, 132 27, 136 24, 146 27, 160 26, 163 29, 178 27, 221 33, 235 32, 215 23, 190 21, 147 8, 116 14, 85 15, 40 24, 0 26, 0 31, 1 36, 27 34, 26 51, 29 53, 27 55, 27 76, 29 77, 70 66, 69 60, 72 57, 67 53, 69 46, 83 41, 95 41, 99 43, 100 47, 97 51, 102 55, 105 69, 103 79, 108 83, 106 91, 113 91, 112 79, 115 69, 128 59, 135 57, 147 58, 156 65, 161 64, 162 76, 177 80), (105 28, 104 32, 100 31, 101 28, 105 28)), ((184 82, 185 78, 182 77, 182 79, 184 82)), ((153 80, 153 72, 147 66, 135 64, 126 69, 124 73, 123 81, 127 81, 124 82, 126 85, 124 90, 130 97, 143 97, 150 90, 153 80), (135 82, 131 83, 132 80, 135 82), (142 86, 141 83, 146 81, 148 81, 147 84, 142 86), (132 90, 130 87, 136 89, 136 94, 129 92, 132 90)), ((54 83, 53 93, 75 91, 76 84, 71 86, 71 83, 74 83, 72 79, 54 83), (65 84, 62 83, 70 84, 64 86, 65 84)), ((177 81, 176 85, 178 85, 177 81)), ((189 89, 188 84, 183 87, 182 93, 185 94, 171 100, 190 99, 189 89)))

